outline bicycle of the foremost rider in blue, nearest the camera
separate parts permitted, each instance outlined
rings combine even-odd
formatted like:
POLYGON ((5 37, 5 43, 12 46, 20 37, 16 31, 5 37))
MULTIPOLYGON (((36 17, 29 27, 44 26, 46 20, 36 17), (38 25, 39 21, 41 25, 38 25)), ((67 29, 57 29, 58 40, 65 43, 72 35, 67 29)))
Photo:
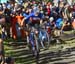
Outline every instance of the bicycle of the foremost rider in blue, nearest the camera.
POLYGON ((30 31, 29 36, 27 36, 27 44, 29 46, 29 49, 32 50, 33 56, 35 56, 36 59, 39 58, 39 44, 36 36, 36 32, 34 31, 34 28, 30 31))

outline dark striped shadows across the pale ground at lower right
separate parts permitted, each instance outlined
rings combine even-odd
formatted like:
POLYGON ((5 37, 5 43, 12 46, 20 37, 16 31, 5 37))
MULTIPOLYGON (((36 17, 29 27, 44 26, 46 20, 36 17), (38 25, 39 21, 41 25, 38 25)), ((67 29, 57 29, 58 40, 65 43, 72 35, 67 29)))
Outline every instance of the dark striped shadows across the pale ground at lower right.
POLYGON ((75 52, 75 47, 68 48, 66 51, 49 52, 46 54, 45 53, 41 54, 40 55, 41 59, 39 60, 40 61, 39 64, 47 64, 50 62, 53 62, 53 64, 69 64, 69 63, 75 62, 75 60, 69 61, 67 59, 67 57, 70 59, 75 58, 75 57, 72 58, 72 56, 75 56, 75 53, 71 54, 71 52, 75 52), (62 60, 64 59, 66 60, 62 62, 62 60))

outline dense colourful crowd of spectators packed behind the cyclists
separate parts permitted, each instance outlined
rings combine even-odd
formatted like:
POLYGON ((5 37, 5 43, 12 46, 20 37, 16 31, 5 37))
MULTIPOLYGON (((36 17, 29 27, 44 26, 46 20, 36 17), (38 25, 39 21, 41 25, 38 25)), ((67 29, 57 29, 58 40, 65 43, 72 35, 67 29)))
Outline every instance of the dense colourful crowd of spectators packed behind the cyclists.
POLYGON ((45 21, 52 21, 52 25, 58 28, 61 28, 62 25, 63 27, 72 25, 75 28, 74 19, 75 3, 73 0, 70 2, 68 0, 53 0, 52 2, 20 0, 0 3, 2 38, 6 38, 6 35, 14 39, 19 36, 24 38, 24 30, 19 26, 25 27, 35 22, 43 24, 45 21))

